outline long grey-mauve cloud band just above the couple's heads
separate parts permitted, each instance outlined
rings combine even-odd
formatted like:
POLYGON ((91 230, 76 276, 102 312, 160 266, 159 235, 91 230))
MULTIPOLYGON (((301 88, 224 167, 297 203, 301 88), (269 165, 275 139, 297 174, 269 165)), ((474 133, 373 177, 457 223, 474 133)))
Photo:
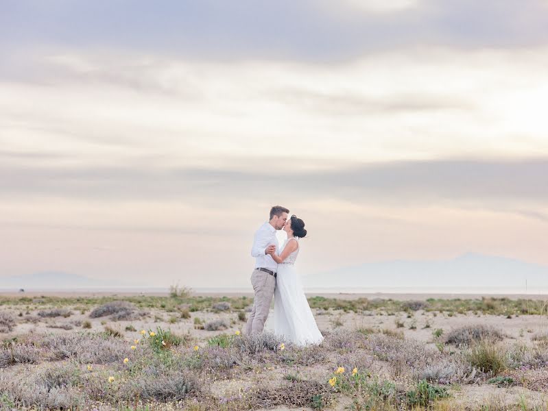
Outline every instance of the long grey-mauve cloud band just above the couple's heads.
MULTIPOLYGON (((263 159, 263 162, 268 159, 263 159)), ((360 203, 397 200, 422 205, 431 201, 521 202, 546 206, 548 158, 522 161, 435 160, 333 166, 329 171, 180 168, 150 166, 0 167, 0 192, 11 197, 157 201, 173 199, 236 201, 253 192, 268 199, 283 182, 284 194, 311 200, 331 197, 360 203)))

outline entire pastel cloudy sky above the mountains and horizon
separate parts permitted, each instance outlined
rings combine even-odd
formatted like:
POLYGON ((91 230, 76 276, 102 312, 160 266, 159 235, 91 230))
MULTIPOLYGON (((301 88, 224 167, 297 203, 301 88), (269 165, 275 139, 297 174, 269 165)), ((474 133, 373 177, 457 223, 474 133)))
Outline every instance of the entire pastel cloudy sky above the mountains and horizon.
POLYGON ((278 204, 306 275, 548 266, 546 0, 2 1, 0 52, 0 279, 249 286, 278 204))

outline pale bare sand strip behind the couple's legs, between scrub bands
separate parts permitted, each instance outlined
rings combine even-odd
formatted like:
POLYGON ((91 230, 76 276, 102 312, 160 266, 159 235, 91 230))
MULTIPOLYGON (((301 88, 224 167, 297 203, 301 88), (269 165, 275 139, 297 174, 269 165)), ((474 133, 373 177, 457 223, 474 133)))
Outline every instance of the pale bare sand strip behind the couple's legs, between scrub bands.
MULTIPOLYGON (((4 308, 12 312, 14 315, 18 315, 23 307, 17 308, 4 308)), ((9 334, 3 334, 3 338, 9 338, 16 334, 22 334, 25 332, 43 333, 52 332, 53 328, 57 325, 69 324, 73 325, 74 329, 80 329, 75 326, 79 322, 90 321, 91 331, 103 331, 105 318, 91 319, 89 318, 89 312, 81 314, 78 310, 72 310, 73 314, 68 318, 56 317, 40 319, 40 322, 33 323, 18 323, 14 330, 9 334)), ((462 327, 470 324, 484 324, 493 325, 504 330, 508 334, 509 340, 523 341, 525 343, 531 342, 531 336, 535 332, 548 331, 548 318, 547 316, 538 315, 521 315, 513 316, 512 319, 507 319, 503 315, 491 315, 491 314, 434 314, 433 312, 424 312, 419 310, 415 312, 412 318, 407 318, 407 314, 401 312, 395 315, 380 314, 378 312, 364 312, 364 314, 356 314, 355 312, 342 312, 323 310, 313 310, 315 314, 316 323, 321 331, 327 331, 337 328, 357 329, 357 328, 373 328, 373 329, 394 329, 403 332, 405 338, 413 338, 424 342, 433 342, 432 332, 434 329, 443 329, 444 333, 448 332, 452 328, 462 327), (403 327, 398 327, 396 322, 403 323, 403 327), (412 328, 414 325, 416 328, 412 328)), ((236 332, 242 330, 245 323, 238 321, 237 314, 230 312, 191 312, 190 319, 177 319, 176 323, 169 323, 171 315, 176 316, 176 313, 166 313, 160 310, 150 310, 150 315, 143 317, 136 321, 108 321, 108 325, 112 328, 121 331, 127 338, 139 338, 139 330, 141 329, 156 329, 158 325, 163 328, 170 328, 172 331, 183 334, 191 333, 198 338, 209 338, 218 332, 205 331, 204 329, 195 329, 194 318, 198 317, 202 322, 213 321, 216 319, 225 319, 230 328, 225 332, 236 332), (132 325, 137 331, 126 332, 126 326, 132 325)), ((272 314, 272 310, 271 310, 272 314)), ((273 315, 269 316, 266 329, 270 325, 270 319, 273 315)), ((55 328, 55 332, 73 332, 73 330, 64 330, 55 328)))

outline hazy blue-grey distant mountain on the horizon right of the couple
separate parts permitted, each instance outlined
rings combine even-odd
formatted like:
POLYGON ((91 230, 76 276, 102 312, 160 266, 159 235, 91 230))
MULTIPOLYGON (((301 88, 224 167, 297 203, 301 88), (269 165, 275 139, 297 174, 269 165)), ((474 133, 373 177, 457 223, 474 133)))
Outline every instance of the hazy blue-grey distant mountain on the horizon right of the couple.
POLYGON ((548 267, 466 253, 453 260, 370 262, 303 276, 308 288, 548 289, 548 267))

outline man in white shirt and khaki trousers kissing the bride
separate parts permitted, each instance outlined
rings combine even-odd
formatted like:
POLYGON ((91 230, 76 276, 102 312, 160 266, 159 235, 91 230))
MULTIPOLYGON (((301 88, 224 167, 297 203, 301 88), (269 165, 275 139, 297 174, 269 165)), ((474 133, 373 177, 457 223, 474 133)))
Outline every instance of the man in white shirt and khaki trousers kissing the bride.
POLYGON ((255 297, 253 309, 246 324, 246 334, 263 331, 270 311, 270 303, 276 287, 276 270, 278 264, 272 259, 276 252, 276 230, 283 229, 289 210, 282 206, 270 209, 270 221, 261 225, 255 233, 251 256, 256 259, 255 269, 251 275, 251 285, 255 297))

